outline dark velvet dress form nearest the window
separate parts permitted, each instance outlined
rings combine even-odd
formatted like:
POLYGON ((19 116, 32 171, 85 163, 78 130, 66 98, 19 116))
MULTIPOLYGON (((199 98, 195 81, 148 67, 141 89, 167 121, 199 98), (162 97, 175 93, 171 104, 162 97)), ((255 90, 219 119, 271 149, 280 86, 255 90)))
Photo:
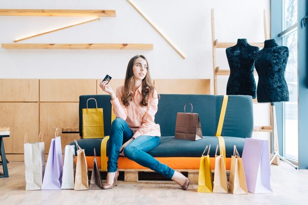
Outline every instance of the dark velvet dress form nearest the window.
POLYGON ((266 40, 264 48, 257 53, 255 68, 259 76, 259 103, 289 101, 288 86, 284 78, 288 57, 288 47, 279 46, 275 39, 266 40))

